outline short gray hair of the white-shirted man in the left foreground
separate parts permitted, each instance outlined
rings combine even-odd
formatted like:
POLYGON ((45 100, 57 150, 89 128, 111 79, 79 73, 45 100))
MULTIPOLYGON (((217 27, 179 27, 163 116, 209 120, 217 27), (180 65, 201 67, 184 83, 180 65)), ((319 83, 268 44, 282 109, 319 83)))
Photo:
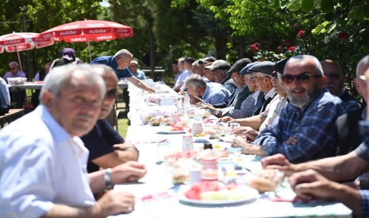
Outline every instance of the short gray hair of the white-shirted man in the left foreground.
POLYGON ((105 82, 101 75, 92 66, 87 64, 66 64, 52 68, 50 73, 44 79, 44 85, 41 88, 39 95, 40 102, 45 91, 49 91, 54 96, 59 96, 60 93, 67 89, 70 85, 70 80, 75 72, 81 72, 84 77, 80 83, 87 85, 98 85, 101 91, 101 100, 106 93, 105 82))

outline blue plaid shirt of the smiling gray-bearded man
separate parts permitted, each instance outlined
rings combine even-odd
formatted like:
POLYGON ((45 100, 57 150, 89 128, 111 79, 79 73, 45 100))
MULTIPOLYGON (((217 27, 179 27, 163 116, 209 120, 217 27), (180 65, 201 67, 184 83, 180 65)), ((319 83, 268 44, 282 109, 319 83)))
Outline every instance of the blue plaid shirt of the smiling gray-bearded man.
POLYGON ((346 112, 342 100, 323 89, 304 109, 288 104, 252 144, 262 145, 268 156, 284 154, 293 163, 334 156, 335 120, 346 112), (297 136, 295 145, 285 143, 291 136, 297 136))

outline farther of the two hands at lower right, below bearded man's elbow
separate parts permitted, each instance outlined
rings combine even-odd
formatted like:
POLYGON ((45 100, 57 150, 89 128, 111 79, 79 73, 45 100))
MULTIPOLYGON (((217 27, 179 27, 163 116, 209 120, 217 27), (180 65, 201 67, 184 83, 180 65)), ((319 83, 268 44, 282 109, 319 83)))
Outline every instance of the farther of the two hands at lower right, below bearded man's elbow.
POLYGON ((287 176, 297 172, 295 169, 296 165, 289 162, 282 154, 264 157, 261 160, 261 165, 263 166, 263 169, 277 169, 284 171, 287 176))

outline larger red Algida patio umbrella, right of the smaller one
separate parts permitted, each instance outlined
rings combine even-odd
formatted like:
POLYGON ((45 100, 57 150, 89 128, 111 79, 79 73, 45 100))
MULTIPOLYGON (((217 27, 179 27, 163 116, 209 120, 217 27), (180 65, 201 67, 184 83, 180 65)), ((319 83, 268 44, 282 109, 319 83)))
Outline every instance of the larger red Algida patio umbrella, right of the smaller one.
POLYGON ((106 41, 132 37, 132 27, 105 20, 81 20, 63 24, 40 33, 42 37, 54 37, 55 41, 87 42, 91 58, 90 41, 106 41))

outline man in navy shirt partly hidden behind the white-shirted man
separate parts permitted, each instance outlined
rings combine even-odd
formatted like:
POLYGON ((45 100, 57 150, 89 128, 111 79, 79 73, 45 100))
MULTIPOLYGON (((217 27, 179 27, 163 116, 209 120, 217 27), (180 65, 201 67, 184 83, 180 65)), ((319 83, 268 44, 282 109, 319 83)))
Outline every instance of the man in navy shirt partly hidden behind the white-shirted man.
POLYGON ((112 68, 92 65, 101 72, 106 86, 106 95, 101 103, 99 120, 94 128, 81 139, 89 150, 87 171, 113 168, 129 160, 138 160, 138 150, 129 140, 124 140, 105 119, 111 112, 118 93, 117 76, 112 68))

